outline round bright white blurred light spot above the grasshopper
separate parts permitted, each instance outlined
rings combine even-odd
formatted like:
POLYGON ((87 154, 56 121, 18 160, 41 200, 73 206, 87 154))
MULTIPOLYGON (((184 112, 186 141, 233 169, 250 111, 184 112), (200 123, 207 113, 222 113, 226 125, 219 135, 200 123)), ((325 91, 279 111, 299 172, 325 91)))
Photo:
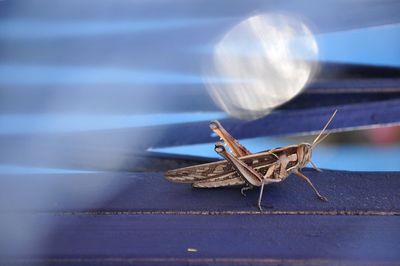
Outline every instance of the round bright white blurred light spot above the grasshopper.
POLYGON ((223 36, 205 66, 215 103, 229 115, 256 119, 299 94, 317 68, 318 46, 299 19, 277 14, 250 17, 223 36), (210 77, 238 82, 216 83, 210 77))

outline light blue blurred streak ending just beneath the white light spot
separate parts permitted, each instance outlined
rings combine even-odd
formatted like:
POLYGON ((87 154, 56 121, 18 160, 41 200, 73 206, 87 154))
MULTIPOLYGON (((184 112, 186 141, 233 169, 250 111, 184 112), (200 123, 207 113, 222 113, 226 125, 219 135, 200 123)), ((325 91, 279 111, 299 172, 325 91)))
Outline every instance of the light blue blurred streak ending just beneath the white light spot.
POLYGON ((79 132, 167 125, 226 118, 223 112, 166 113, 146 115, 3 114, 0 134, 79 132))

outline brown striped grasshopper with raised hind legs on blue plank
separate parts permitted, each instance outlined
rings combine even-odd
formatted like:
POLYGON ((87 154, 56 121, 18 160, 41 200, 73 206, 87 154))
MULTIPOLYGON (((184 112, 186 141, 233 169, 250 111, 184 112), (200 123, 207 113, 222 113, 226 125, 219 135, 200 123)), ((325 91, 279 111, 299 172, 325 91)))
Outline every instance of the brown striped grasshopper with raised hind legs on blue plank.
POLYGON ((221 142, 215 144, 215 151, 225 160, 169 170, 165 173, 165 177, 177 183, 191 183, 193 187, 198 188, 241 185, 243 187, 240 192, 243 196, 246 196, 246 190, 255 186, 261 187, 257 204, 261 211, 264 186, 282 182, 293 173, 306 181, 320 200, 327 201, 327 198, 318 192, 310 179, 301 172, 301 169, 311 163, 315 170, 321 172, 311 161, 312 150, 329 135, 328 133, 322 137, 336 112, 337 110, 311 144, 300 143, 254 154, 233 138, 218 121, 212 121, 210 123, 211 130, 231 150, 228 152, 221 142))

